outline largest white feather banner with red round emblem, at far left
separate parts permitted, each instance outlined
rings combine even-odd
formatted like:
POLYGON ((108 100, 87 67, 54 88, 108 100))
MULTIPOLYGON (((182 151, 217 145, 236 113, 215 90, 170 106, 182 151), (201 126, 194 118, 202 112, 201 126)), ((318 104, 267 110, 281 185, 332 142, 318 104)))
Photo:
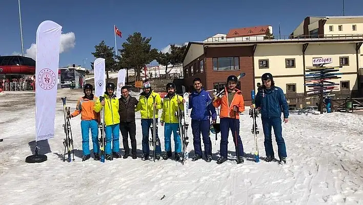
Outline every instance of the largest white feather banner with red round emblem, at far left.
POLYGON ((36 30, 35 141, 54 137, 58 64, 62 26, 44 21, 36 30))

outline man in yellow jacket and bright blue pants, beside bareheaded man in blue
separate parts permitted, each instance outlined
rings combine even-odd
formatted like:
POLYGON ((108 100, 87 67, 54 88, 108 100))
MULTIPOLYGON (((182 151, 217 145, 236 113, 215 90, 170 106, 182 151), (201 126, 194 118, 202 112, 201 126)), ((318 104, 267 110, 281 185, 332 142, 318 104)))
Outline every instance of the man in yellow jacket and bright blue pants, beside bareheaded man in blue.
POLYGON ((179 119, 176 116, 178 107, 184 110, 185 100, 183 97, 178 96, 175 92, 175 84, 168 83, 167 86, 168 95, 165 96, 163 101, 163 113, 160 119, 160 124, 164 126, 164 139, 165 139, 165 154, 163 156, 164 160, 169 159, 171 154, 171 133, 174 136, 174 146, 175 146, 175 160, 179 160, 181 156, 181 142, 180 135, 178 134, 179 129, 179 119))

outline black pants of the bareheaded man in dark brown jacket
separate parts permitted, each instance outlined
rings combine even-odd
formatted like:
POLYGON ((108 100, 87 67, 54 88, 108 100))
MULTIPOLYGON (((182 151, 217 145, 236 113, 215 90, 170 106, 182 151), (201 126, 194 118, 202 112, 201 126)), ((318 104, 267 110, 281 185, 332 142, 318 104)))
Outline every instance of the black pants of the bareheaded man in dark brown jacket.
POLYGON ((136 155, 136 123, 132 122, 120 122, 120 131, 122 134, 122 142, 124 144, 125 154, 130 154, 129 147, 129 134, 131 140, 131 153, 136 155))

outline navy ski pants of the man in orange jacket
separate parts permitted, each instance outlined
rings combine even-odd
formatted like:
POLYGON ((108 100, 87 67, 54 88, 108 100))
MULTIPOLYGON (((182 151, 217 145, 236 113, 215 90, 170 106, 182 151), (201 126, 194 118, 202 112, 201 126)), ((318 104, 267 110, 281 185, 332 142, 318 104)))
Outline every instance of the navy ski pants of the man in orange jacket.
POLYGON ((239 136, 239 119, 234 118, 220 118, 220 156, 227 158, 229 131, 232 132, 235 147, 237 147, 238 144, 238 155, 242 157, 244 155, 244 150, 241 137, 239 136))

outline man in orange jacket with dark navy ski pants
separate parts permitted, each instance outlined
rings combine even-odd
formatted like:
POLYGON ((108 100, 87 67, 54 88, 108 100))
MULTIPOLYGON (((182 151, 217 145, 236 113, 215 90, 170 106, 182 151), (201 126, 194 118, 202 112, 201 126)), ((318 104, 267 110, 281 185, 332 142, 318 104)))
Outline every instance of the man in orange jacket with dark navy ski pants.
POLYGON ((228 152, 228 136, 231 130, 233 142, 236 146, 237 163, 243 163, 243 144, 239 136, 239 113, 245 111, 245 101, 239 89, 236 88, 238 79, 236 76, 229 76, 227 78, 227 87, 225 88, 225 95, 213 101, 214 107, 220 106, 220 157, 217 163, 221 164, 227 160, 228 152), (236 139, 237 142, 236 143, 236 139), (237 146, 238 145, 238 146, 237 146))

